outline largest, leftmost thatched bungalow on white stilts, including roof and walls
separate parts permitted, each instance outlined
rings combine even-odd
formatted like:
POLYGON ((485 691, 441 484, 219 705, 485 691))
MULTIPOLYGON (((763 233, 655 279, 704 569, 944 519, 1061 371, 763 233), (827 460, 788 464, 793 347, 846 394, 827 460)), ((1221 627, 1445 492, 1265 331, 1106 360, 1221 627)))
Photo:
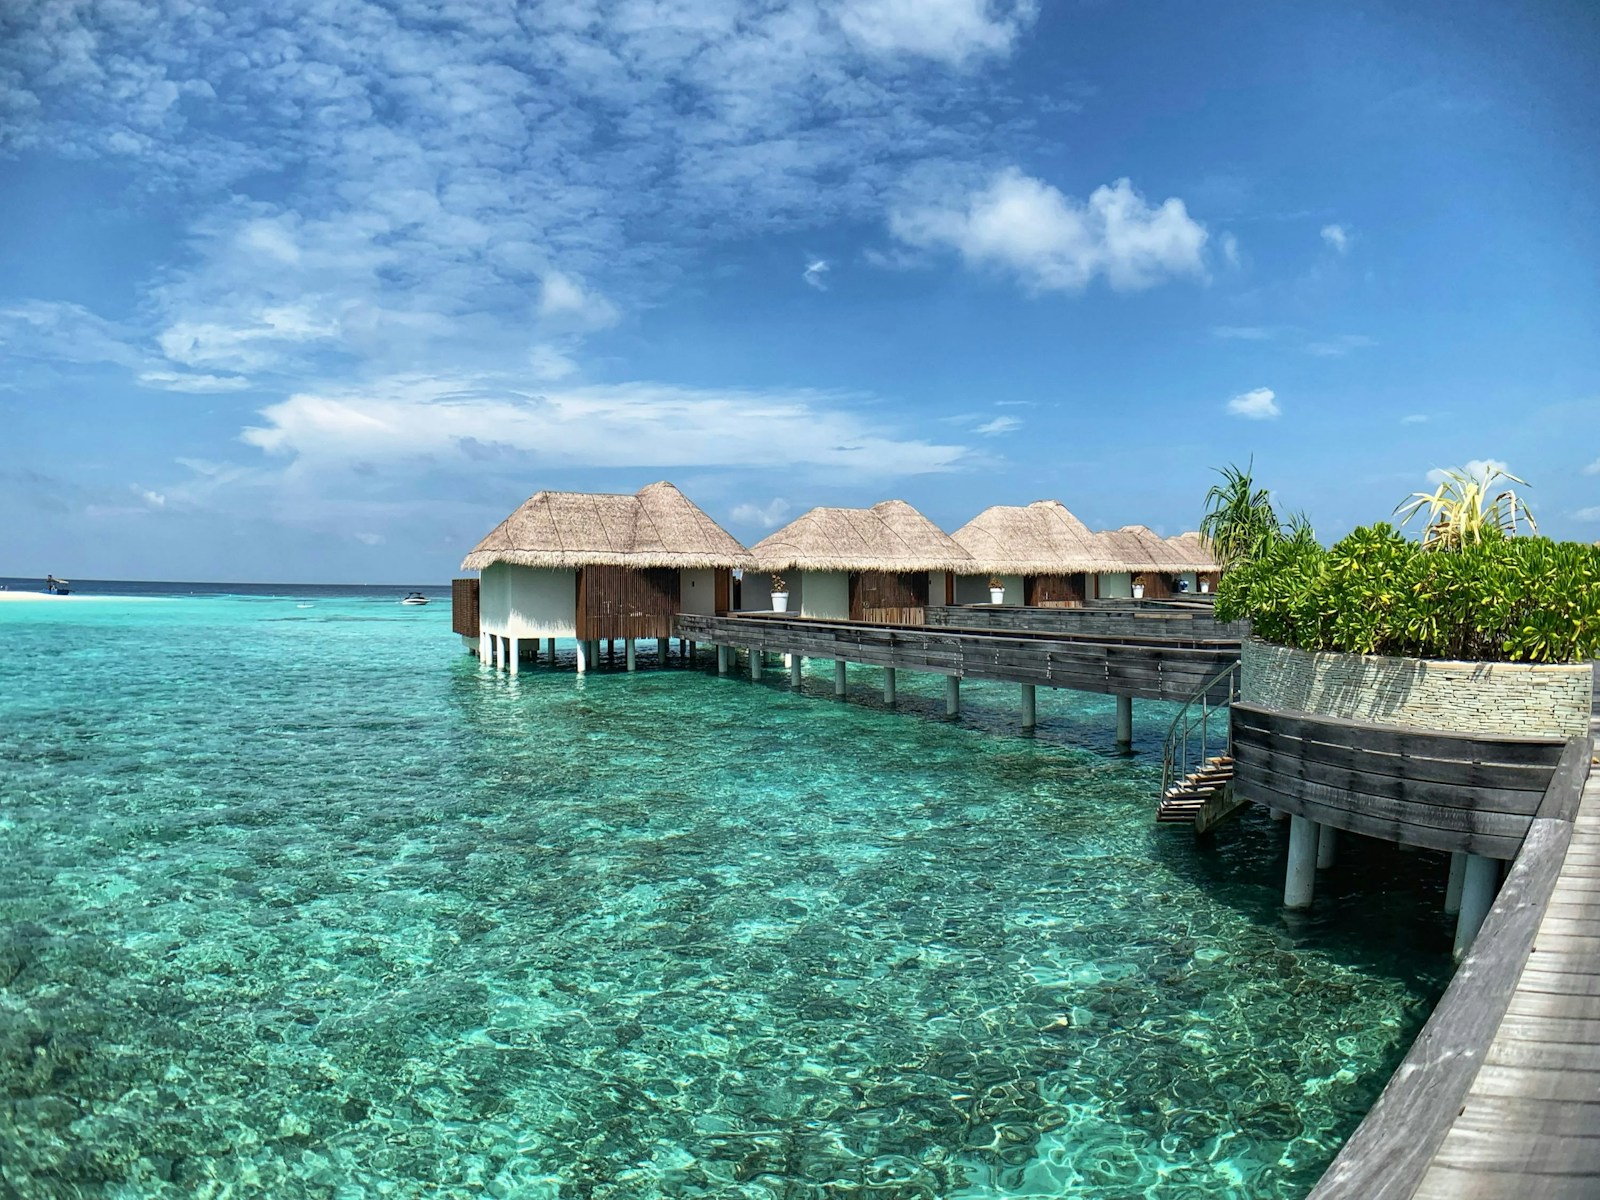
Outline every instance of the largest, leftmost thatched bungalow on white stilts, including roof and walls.
POLYGON ((634 496, 541 491, 462 560, 480 571, 478 653, 515 670, 538 638, 578 638, 582 670, 602 638, 672 635, 678 613, 733 606, 749 550, 670 483, 634 496))

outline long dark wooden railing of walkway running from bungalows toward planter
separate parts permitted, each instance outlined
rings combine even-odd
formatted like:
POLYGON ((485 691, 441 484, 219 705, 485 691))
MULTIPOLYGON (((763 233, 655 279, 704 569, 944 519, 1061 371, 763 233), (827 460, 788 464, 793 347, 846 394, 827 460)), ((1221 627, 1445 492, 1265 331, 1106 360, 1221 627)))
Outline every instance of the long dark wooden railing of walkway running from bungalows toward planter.
POLYGON ((771 654, 1162 701, 1189 699, 1238 659, 1237 640, 1053 637, 754 613, 680 614, 677 635, 771 654))

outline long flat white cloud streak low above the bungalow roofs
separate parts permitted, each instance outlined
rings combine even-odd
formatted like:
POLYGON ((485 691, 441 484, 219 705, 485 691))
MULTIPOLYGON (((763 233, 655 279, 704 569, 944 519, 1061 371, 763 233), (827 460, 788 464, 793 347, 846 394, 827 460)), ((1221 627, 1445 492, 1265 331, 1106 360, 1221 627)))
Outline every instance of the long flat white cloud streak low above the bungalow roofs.
POLYGON ((819 392, 683 389, 635 382, 526 392, 486 379, 395 378, 299 392, 261 410, 240 438, 306 474, 498 446, 530 464, 797 467, 862 477, 952 470, 965 446, 898 437, 819 392))

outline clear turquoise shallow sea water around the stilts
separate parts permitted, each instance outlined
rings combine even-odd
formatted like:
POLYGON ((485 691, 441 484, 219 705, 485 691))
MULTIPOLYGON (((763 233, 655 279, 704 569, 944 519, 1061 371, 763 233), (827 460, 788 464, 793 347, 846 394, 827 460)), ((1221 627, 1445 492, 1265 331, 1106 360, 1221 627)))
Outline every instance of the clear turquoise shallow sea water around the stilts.
POLYGON ((0 605, 0 1192, 1298 1197, 1443 987, 1437 856, 1154 829, 1160 706, 448 616, 0 605))

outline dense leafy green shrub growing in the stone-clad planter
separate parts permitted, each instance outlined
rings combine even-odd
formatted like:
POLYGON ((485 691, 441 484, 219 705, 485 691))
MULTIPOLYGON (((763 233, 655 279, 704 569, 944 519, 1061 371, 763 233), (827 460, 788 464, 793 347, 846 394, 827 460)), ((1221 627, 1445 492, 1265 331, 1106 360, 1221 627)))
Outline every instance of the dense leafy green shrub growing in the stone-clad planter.
POLYGON ((1224 621, 1299 650, 1510 662, 1600 658, 1600 547, 1488 536, 1424 550, 1389 525, 1269 546, 1222 576, 1224 621))

